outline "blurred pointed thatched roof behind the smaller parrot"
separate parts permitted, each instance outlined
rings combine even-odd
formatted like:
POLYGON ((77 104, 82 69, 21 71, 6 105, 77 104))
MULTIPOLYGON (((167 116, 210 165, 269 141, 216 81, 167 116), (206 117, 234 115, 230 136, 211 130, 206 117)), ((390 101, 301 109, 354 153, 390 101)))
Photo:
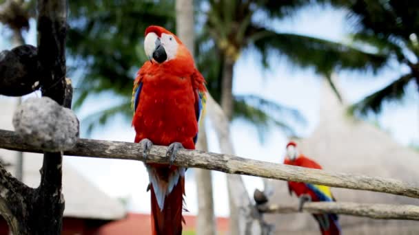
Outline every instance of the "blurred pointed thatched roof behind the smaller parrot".
MULTIPOLYGON (((324 85, 320 122, 310 137, 298 140, 300 151, 318 161, 325 170, 375 177, 389 177, 418 184, 419 154, 394 142, 388 133, 345 115, 329 85, 324 85)), ((296 202, 285 181, 276 181, 274 202, 296 202)), ((418 199, 391 194, 333 188, 338 201, 419 205, 418 199)), ((276 224, 277 234, 318 234, 318 225, 309 214, 267 216, 276 224)), ((343 234, 418 234, 419 223, 384 221, 340 216, 343 234)))

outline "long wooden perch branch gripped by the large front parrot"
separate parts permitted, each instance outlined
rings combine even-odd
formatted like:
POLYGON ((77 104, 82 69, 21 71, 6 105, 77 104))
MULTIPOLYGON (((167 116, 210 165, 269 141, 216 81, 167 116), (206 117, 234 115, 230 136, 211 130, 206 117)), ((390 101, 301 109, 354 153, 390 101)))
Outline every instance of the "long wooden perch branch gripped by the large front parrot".
MULTIPOLYGON (((41 149, 30 146, 28 142, 25 142, 16 133, 3 130, 0 130, 0 148, 32 153, 42 152, 41 149)), ((148 155, 147 163, 168 164, 169 162, 165 157, 166 149, 164 146, 153 146, 148 155)), ((64 154, 144 161, 140 154, 142 150, 139 144, 134 143, 79 139, 76 146, 64 154)), ((270 179, 316 183, 336 188, 386 192, 419 198, 419 188, 417 186, 396 179, 327 172, 325 170, 256 161, 234 155, 207 153, 200 150, 179 150, 174 165, 218 170, 229 174, 253 175, 270 179)))

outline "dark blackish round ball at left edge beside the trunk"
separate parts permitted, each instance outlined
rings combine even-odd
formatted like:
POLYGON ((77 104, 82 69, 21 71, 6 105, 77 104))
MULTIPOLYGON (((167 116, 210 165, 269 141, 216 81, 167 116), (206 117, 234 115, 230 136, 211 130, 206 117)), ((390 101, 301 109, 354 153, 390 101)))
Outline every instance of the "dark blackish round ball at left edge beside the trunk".
POLYGON ((39 88, 37 47, 21 45, 0 52, 0 94, 23 96, 39 88))

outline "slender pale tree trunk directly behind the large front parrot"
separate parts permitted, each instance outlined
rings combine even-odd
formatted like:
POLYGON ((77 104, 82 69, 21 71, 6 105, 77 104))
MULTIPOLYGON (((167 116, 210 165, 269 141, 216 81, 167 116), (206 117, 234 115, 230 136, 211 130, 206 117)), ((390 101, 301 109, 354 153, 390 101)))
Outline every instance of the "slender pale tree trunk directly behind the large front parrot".
MULTIPOLYGON (((176 0, 176 34, 194 56, 194 5, 192 0, 176 0)), ((202 117, 204 118, 204 117, 202 117)), ((198 149, 207 151, 205 125, 199 128, 198 149)), ((212 178, 210 170, 195 169, 198 195, 198 235, 215 235, 214 202, 212 199, 212 178)))

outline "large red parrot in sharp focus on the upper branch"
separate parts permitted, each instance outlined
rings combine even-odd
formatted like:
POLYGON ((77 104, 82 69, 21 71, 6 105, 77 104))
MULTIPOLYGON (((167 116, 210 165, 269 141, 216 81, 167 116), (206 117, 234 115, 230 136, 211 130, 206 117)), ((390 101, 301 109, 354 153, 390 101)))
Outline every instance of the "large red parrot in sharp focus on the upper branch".
POLYGON ((145 164, 153 235, 181 235, 185 168, 172 166, 180 148, 194 149, 205 107, 205 80, 179 38, 160 26, 145 30, 145 54, 132 94, 136 135, 147 159, 152 144, 169 146, 167 164, 145 164))

